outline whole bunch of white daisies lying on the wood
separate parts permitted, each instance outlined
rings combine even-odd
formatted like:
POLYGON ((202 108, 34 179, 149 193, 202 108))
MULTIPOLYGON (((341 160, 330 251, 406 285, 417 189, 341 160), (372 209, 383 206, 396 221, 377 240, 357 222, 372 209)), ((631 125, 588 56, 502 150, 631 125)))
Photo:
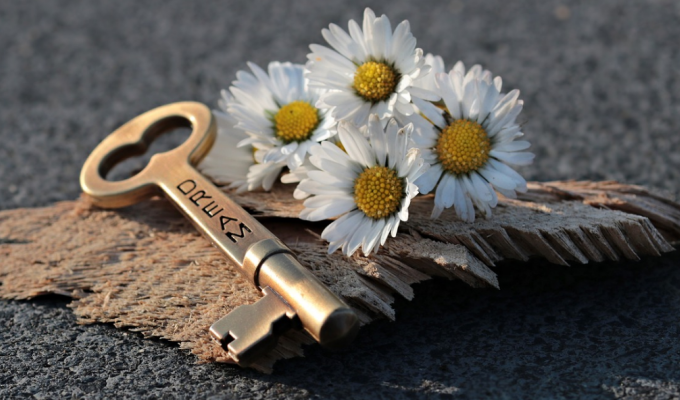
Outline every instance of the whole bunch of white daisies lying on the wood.
MULTIPOLYGON (((408 220, 411 200, 434 193, 432 218, 453 207, 463 222, 489 218, 498 194, 526 181, 512 166, 534 155, 516 122, 519 91, 416 48, 408 21, 364 12, 363 24, 322 31, 306 65, 249 63, 216 111, 218 140, 201 164, 237 192, 297 185, 300 218, 334 219, 329 252, 377 251, 408 220), (283 175, 282 175, 283 174, 283 175)), ((455 223, 455 220, 452 221, 455 223)))

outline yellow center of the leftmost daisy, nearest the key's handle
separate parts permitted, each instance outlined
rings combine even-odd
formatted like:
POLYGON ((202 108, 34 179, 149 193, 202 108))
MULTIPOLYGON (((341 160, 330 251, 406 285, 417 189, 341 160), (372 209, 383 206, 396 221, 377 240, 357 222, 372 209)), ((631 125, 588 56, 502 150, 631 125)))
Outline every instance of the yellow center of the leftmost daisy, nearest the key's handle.
POLYGON ((276 137, 284 143, 304 142, 319 124, 319 113, 306 101, 298 100, 281 107, 274 116, 276 137))

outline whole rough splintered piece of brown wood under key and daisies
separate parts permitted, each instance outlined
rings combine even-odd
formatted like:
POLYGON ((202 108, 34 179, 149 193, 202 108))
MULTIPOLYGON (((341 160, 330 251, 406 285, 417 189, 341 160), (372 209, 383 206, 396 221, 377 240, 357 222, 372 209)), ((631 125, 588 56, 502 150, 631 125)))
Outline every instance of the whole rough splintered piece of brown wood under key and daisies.
MULTIPOLYGON (((450 210, 433 221, 431 198, 419 197, 402 232, 371 257, 327 254, 319 239, 325 224, 292 219, 301 202, 292 199, 290 187, 234 198, 346 299, 363 323, 394 319, 394 296, 413 298, 411 285, 431 276, 498 288, 490 267, 501 260, 637 259, 672 250, 667 240, 680 237, 678 204, 643 188, 613 182, 530 188, 520 200, 503 199, 492 219, 474 224, 458 221, 450 210)), ((81 199, 1 211, 0 259, 1 297, 70 296, 80 323, 110 322, 176 341, 203 362, 232 361, 207 328, 260 297, 163 199, 120 210, 95 209, 81 199)), ((311 343, 304 333, 286 335, 256 368, 270 371, 275 360, 300 356, 304 343, 311 343)))

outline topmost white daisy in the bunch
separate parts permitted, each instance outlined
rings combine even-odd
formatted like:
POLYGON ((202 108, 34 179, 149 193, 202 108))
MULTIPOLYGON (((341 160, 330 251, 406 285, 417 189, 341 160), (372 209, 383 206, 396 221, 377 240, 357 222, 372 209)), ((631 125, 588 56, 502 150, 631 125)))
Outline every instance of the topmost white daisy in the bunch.
POLYGON ((429 67, 424 64, 423 51, 416 48, 408 21, 393 32, 385 15, 376 18, 367 8, 363 29, 350 20, 349 34, 335 24, 322 34, 333 49, 310 46, 307 77, 310 86, 327 90, 317 105, 330 109, 335 119, 362 126, 369 114, 378 114, 384 121, 396 112, 413 114, 413 97, 438 100, 413 86, 429 67))

